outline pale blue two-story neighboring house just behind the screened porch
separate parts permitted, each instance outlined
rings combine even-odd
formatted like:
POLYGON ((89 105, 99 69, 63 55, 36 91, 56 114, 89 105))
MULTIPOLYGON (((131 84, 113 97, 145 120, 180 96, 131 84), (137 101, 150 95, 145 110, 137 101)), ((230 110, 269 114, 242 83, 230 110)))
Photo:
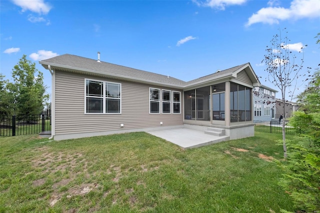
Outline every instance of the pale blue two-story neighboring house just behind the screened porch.
POLYGON ((272 118, 275 118, 275 92, 277 92, 277 90, 264 85, 254 87, 254 120, 271 121, 272 118))

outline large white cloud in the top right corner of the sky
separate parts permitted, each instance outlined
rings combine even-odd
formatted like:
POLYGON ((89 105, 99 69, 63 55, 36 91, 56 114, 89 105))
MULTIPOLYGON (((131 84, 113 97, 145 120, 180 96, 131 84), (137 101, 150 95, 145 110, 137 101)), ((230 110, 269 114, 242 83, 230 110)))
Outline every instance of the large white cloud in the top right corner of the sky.
MULTIPOLYGON (((268 2, 274 5, 273 1, 268 2)), ((264 7, 248 18, 246 26, 253 23, 279 23, 279 20, 320 17, 320 0, 292 0, 289 8, 264 7)))

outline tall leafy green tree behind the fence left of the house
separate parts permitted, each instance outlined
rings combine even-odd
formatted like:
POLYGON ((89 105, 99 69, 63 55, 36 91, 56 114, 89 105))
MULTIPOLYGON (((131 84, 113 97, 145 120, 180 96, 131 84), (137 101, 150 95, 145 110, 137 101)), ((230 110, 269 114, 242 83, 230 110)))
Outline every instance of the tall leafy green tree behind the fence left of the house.
POLYGON ((7 88, 15 96, 14 113, 18 116, 39 114, 48 99, 42 72, 23 55, 12 69, 12 79, 13 82, 7 83, 7 88))

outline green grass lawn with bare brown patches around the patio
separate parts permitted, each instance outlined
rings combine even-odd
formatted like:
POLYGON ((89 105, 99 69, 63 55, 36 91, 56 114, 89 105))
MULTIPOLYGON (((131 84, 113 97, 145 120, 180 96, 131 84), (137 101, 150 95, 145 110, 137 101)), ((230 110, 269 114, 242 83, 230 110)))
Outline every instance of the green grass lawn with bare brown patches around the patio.
POLYGON ((272 162, 280 137, 187 150, 145 132, 0 137, 0 212, 294 211, 272 162))

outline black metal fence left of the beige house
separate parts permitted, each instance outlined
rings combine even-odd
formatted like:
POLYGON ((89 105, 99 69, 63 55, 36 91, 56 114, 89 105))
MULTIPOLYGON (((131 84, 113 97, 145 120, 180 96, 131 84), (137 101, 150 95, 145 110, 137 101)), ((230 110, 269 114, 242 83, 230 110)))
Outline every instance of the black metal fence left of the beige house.
POLYGON ((37 115, 1 115, 0 136, 15 136, 37 134, 51 130, 51 117, 45 114, 37 115))

